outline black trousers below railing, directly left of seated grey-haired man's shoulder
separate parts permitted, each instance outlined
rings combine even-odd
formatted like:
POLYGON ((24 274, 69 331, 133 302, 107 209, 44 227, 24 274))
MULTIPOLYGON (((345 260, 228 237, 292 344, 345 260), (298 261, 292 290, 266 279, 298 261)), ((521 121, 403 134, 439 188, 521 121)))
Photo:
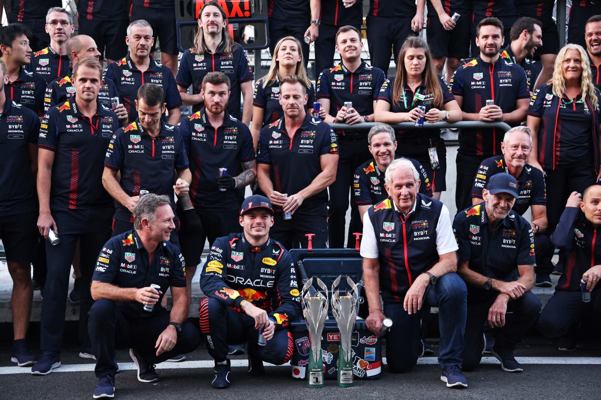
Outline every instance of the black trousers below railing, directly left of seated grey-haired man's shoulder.
MULTIPOLYGON (((338 137, 338 169, 336 170, 336 180, 328 188, 330 200, 328 203, 328 231, 330 234, 330 248, 339 249, 344 247, 344 229, 346 227, 346 210, 349 209, 349 199, 353 197, 350 190, 353 184, 353 175, 356 169, 365 161, 371 158, 367 148, 367 137, 358 135, 356 139, 353 136, 338 137)), ((353 232, 362 232, 356 230, 361 227, 361 218, 355 201, 350 202, 351 207, 351 225, 349 228, 348 246, 355 246, 355 236, 353 232), (353 218, 353 213, 356 215, 353 218), (359 218, 359 219, 357 219, 359 218), (357 225, 357 221, 359 225, 357 225)))

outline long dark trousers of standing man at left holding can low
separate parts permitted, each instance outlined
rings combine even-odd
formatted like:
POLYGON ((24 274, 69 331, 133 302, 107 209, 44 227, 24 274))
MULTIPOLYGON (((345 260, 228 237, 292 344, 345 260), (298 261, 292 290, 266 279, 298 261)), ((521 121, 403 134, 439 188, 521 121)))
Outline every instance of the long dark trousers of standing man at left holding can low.
POLYGON ((46 240, 47 275, 41 302, 41 349, 61 351, 65 329, 65 309, 69 291, 69 272, 78 240, 81 270, 79 339, 90 341, 88 311, 92 305, 90 285, 100 249, 111 237, 112 207, 97 210, 52 211, 61 242, 53 246, 46 240))

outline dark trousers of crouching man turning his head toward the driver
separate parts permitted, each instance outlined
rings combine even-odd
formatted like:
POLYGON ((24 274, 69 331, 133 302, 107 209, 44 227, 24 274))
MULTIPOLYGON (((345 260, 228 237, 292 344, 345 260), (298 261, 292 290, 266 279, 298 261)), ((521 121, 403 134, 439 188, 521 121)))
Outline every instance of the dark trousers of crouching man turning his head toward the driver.
POLYGON ((182 324, 182 332, 177 334, 175 346, 160 356, 156 355, 156 340, 169 325, 169 320, 168 311, 159 312, 149 318, 126 317, 113 300, 96 300, 88 315, 88 330, 96 356, 96 377, 115 376, 115 348, 133 347, 152 364, 196 350, 200 344, 198 329, 185 321, 182 324))

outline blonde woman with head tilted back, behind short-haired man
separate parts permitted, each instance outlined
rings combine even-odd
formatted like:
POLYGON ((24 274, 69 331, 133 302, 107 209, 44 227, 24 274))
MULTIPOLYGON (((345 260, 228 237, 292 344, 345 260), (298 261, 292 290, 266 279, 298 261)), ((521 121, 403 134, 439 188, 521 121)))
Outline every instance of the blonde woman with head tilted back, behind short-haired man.
POLYGON ((307 70, 302 61, 301 42, 292 36, 286 36, 281 38, 273 49, 269 72, 255 85, 251 126, 255 150, 261 129, 284 116, 282 106, 279 105, 279 81, 290 75, 296 75, 307 86, 309 98, 305 109, 313 114, 315 88, 307 77, 307 70))

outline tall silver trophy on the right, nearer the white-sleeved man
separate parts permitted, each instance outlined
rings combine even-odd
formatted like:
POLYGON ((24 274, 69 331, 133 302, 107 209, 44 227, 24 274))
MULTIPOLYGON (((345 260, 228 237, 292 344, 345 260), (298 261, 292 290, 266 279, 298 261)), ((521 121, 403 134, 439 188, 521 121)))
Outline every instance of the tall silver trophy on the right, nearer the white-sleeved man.
POLYGON ((340 348, 338 350, 338 379, 337 384, 341 387, 353 386, 353 357, 350 348, 350 336, 355 327, 357 318, 357 302, 359 301, 359 290, 355 282, 346 277, 350 290, 341 295, 338 290, 341 275, 332 283, 332 313, 338 323, 340 331, 340 348))

